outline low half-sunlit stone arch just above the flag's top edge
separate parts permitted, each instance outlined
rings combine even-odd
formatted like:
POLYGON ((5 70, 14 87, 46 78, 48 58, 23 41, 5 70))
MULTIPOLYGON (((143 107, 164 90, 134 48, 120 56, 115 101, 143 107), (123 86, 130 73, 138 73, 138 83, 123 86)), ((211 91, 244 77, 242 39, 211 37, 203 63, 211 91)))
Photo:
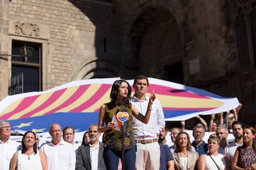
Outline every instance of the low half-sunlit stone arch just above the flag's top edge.
POLYGON ((119 77, 123 72, 126 72, 126 67, 121 63, 104 59, 87 60, 83 66, 75 72, 72 80, 113 78, 119 77))

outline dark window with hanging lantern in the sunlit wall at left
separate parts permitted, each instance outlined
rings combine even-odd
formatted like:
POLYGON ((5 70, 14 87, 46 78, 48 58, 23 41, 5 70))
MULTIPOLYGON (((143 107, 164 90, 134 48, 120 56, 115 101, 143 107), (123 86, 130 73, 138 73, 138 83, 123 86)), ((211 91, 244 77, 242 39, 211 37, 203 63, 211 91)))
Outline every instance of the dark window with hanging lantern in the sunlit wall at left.
POLYGON ((41 47, 40 43, 12 41, 12 81, 9 94, 41 91, 41 47), (33 47, 31 55, 21 55, 20 48, 33 47), (22 82, 23 91, 15 92, 17 81, 22 82))

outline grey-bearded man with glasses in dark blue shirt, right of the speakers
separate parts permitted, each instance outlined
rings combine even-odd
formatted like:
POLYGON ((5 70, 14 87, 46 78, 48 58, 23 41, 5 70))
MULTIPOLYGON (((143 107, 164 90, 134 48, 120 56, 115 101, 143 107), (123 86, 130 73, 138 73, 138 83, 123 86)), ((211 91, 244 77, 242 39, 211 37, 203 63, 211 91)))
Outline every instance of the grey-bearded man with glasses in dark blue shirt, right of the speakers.
POLYGON ((199 156, 208 152, 207 143, 203 141, 204 136, 205 127, 202 124, 198 123, 193 129, 194 141, 191 145, 195 148, 195 151, 198 153, 199 156))

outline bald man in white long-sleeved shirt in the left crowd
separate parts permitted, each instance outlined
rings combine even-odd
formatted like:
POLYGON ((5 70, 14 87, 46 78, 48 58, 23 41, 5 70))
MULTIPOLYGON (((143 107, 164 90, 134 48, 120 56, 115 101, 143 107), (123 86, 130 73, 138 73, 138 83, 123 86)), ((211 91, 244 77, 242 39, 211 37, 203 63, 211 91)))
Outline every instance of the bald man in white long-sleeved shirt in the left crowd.
POLYGON ((49 134, 51 135, 51 142, 46 142, 40 148, 46 155, 48 169, 74 170, 74 148, 68 142, 61 140, 61 126, 57 123, 51 124, 49 134))

